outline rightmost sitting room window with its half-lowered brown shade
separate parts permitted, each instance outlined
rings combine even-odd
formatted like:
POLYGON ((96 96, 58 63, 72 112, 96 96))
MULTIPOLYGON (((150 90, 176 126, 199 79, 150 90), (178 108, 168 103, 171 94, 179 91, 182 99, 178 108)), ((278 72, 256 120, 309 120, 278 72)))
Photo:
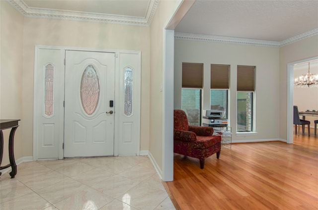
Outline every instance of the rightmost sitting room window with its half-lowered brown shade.
POLYGON ((238 66, 237 131, 252 132, 255 66, 238 66))

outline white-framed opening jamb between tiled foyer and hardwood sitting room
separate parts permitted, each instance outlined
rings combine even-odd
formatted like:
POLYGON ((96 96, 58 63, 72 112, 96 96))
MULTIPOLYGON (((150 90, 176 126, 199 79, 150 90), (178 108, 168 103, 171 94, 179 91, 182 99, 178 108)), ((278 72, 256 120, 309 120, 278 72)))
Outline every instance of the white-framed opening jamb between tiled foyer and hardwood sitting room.
POLYGON ((162 69, 162 177, 173 181, 173 86, 174 86, 174 29, 195 0, 180 1, 175 13, 163 28, 162 69))

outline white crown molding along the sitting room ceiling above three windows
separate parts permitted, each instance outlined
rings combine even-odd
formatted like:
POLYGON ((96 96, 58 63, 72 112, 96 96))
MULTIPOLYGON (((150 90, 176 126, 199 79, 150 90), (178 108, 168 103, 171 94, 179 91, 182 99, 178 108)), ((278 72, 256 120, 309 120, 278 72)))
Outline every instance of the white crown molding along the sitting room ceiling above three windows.
POLYGON ((294 42, 298 42, 303 39, 318 35, 318 28, 310 30, 308 32, 299 34, 281 42, 253 40, 253 39, 242 39, 235 37, 223 37, 213 35, 200 35, 200 34, 187 34, 187 33, 175 33, 175 39, 193 40, 193 41, 205 41, 205 42, 216 42, 216 43, 228 43, 228 44, 240 44, 240 45, 253 45, 261 47, 280 48, 294 42))

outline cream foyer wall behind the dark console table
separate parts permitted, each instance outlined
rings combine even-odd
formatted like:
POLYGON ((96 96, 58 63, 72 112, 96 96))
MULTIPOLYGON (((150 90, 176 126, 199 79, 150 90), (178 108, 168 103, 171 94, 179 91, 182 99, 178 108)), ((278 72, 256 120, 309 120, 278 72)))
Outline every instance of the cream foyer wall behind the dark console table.
MULTIPOLYGON (((0 119, 22 118, 22 49, 23 16, 6 1, 0 1, 1 46, 0 46, 0 119)), ((22 124, 19 122, 19 125, 22 124)), ((23 126, 18 127, 14 136, 15 159, 23 157, 23 126)), ((3 160, 1 165, 9 163, 8 136, 4 130, 3 160)))

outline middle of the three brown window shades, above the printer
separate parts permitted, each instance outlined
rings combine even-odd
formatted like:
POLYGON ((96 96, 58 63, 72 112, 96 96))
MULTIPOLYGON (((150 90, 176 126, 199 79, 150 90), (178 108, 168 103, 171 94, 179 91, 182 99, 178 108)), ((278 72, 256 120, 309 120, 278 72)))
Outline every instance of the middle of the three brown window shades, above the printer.
POLYGON ((229 89, 230 65, 211 64, 211 89, 229 89))

